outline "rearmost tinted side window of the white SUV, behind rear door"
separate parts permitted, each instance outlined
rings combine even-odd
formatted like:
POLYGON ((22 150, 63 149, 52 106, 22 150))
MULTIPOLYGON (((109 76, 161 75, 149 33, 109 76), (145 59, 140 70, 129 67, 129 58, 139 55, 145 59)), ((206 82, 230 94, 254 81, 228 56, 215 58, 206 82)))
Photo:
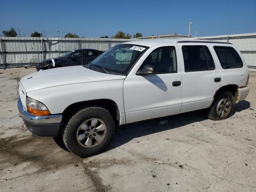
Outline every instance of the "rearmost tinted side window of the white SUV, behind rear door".
POLYGON ((223 69, 242 68, 243 62, 238 52, 232 47, 214 46, 223 69))

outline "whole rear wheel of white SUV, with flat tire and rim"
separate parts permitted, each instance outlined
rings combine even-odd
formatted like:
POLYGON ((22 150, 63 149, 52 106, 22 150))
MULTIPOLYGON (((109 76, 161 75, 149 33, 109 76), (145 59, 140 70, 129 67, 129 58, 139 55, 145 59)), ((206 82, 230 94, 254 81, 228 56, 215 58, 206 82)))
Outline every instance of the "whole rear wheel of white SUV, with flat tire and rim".
POLYGON ((223 120, 233 114, 234 97, 230 92, 224 92, 214 99, 208 109, 207 117, 211 120, 223 120))

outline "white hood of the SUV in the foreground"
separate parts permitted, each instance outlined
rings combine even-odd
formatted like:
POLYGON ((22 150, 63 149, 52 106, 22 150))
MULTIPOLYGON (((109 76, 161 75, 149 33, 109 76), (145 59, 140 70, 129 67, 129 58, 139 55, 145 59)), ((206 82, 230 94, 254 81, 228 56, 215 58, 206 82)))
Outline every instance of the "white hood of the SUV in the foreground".
POLYGON ((20 81, 26 92, 67 84, 124 79, 126 76, 96 72, 83 66, 53 68, 24 76, 20 81))

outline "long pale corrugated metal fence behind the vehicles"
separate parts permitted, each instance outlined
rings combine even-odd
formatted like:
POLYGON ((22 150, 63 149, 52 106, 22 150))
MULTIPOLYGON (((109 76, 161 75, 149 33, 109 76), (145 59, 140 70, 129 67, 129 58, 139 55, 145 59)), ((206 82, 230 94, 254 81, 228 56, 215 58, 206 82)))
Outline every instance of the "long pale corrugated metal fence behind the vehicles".
MULTIPOLYGON (((158 36, 163 38, 186 38, 184 35, 158 36)), ((0 37, 0 67, 32 66, 42 60, 58 57, 70 50, 92 48, 106 51, 116 44, 127 41, 148 40, 152 37, 113 38, 33 38, 0 37)), ((154 37, 154 39, 156 36, 154 37)), ((199 39, 199 38, 190 38, 199 39)), ((204 40, 231 42, 242 52, 247 65, 256 67, 256 33, 200 37, 204 40)))

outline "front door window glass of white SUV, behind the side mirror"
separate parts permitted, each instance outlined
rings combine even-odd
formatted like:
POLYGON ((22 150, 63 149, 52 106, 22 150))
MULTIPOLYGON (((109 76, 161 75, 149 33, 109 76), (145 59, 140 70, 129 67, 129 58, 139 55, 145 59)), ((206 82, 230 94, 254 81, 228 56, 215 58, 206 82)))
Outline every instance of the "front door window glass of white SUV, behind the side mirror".
POLYGON ((150 53, 144 60, 140 69, 145 65, 152 65, 158 71, 157 74, 177 72, 177 58, 174 46, 160 47, 150 53))

